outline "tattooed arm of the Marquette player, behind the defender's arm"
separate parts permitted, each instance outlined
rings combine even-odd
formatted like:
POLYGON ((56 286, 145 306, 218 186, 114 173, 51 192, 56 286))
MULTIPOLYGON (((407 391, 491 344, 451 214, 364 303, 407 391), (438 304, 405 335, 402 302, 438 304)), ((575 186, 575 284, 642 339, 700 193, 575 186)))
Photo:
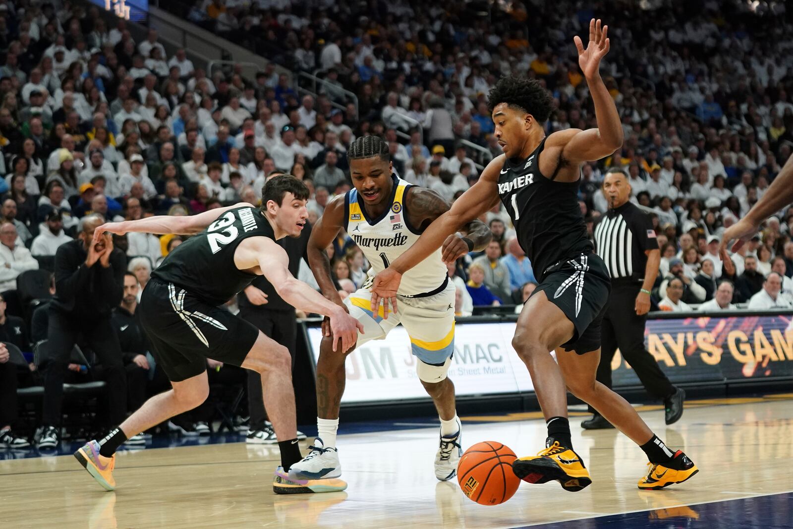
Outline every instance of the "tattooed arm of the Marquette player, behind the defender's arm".
MULTIPOLYGON (((405 197, 410 224, 424 232, 432 222, 450 209, 449 203, 435 191, 414 186, 405 197)), ((482 251, 492 239, 487 224, 479 219, 470 220, 459 232, 446 237, 443 242, 443 262, 454 263, 469 251, 482 251)))

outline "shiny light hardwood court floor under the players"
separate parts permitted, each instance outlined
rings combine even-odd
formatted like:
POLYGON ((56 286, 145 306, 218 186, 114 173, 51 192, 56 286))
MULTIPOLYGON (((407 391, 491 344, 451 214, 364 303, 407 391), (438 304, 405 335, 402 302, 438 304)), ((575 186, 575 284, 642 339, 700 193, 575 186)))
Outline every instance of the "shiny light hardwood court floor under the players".
MULTIPOLYGON (((642 412, 670 447, 684 449, 700 468, 687 483, 664 491, 637 489, 646 471, 638 447, 616 431, 582 432, 576 419, 573 441, 593 478, 580 493, 567 493, 556 483, 523 483, 505 504, 474 504, 456 481, 435 479, 438 431, 433 427, 340 436, 343 477, 350 485, 344 493, 275 495, 277 447, 244 443, 122 452, 115 493, 101 489, 71 456, 0 461, 0 527, 486 529, 646 510, 655 510, 649 519, 685 519, 682 526, 664 527, 749 527, 730 524, 726 514, 722 520, 699 519, 696 504, 793 489, 791 399, 793 394, 692 406, 672 427, 663 424, 663 412, 642 412)), ((464 424, 463 447, 497 440, 523 455, 541 448, 545 435, 539 420, 464 424)), ((793 514, 793 496, 779 497, 785 503, 777 508, 793 514)), ((643 519, 630 527, 646 527, 643 519)))

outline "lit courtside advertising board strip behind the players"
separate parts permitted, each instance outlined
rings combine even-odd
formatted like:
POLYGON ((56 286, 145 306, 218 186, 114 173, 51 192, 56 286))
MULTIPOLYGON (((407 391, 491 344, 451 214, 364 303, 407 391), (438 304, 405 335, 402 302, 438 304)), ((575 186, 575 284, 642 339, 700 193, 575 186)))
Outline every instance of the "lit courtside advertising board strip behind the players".
MULTIPOLYGON (((645 343, 672 382, 793 378, 791 315, 648 319, 645 343)), ((322 332, 308 327, 313 360, 322 332)), ((528 370, 511 346, 515 322, 455 326, 449 376, 460 396, 533 391, 528 370)), ((641 385, 619 350, 611 362, 615 388, 641 385)), ((371 340, 347 358, 343 404, 426 398, 404 328, 371 340)))

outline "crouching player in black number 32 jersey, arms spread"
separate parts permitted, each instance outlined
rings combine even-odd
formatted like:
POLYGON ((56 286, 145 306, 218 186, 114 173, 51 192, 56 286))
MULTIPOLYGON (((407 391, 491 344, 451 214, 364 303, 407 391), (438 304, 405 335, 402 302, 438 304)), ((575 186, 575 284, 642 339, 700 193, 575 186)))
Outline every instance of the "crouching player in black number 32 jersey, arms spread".
POLYGON ((347 488, 341 480, 296 481, 286 473, 301 460, 297 445, 292 362, 286 347, 251 323, 220 308, 263 275, 289 304, 329 316, 335 344, 346 351, 362 325, 339 305, 289 273, 289 258, 276 242, 299 236, 308 210, 308 188, 285 175, 262 190, 262 207, 239 203, 193 217, 149 217, 103 224, 94 243, 109 233, 197 234, 167 255, 151 274, 140 299, 140 324, 155 360, 173 389, 151 397, 101 441, 90 441, 75 457, 105 489, 113 490, 114 453, 128 437, 195 408, 209 394, 206 359, 228 362, 262 375, 263 398, 281 450, 276 493, 320 493, 347 488), (203 231, 202 231, 203 230, 203 231))

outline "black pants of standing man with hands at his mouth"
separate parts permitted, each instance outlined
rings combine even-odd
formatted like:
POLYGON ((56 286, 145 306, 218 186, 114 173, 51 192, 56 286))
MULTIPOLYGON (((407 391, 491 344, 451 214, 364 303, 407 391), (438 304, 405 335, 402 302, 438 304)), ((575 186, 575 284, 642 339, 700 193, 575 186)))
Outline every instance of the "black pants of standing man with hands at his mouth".
POLYGON ((102 364, 102 379, 107 382, 110 424, 121 424, 127 416, 127 375, 110 317, 94 320, 49 309, 48 364, 44 372, 44 409, 46 426, 61 424, 63 381, 66 379, 71 350, 78 335, 86 339, 102 364))

